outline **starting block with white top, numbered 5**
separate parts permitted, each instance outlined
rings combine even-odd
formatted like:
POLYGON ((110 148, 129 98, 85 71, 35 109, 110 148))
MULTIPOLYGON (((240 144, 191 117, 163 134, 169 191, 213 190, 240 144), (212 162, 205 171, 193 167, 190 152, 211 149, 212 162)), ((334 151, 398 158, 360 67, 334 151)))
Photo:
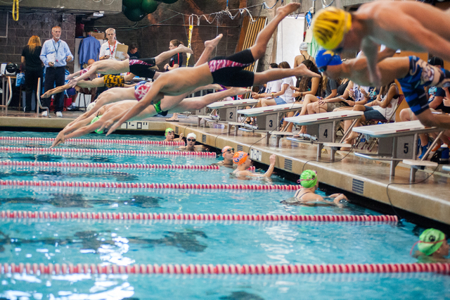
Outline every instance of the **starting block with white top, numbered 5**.
MULTIPOLYGON (((428 132, 440 132, 439 135, 442 135, 443 132, 442 129, 437 127, 427 128, 418 120, 356 127, 353 131, 368 137, 378 138, 378 154, 355 153, 356 156, 378 161, 390 161, 391 176, 395 175, 397 164, 400 161, 404 161, 405 164, 411 165, 411 182, 414 181, 417 167, 430 166, 430 161, 416 160, 418 135, 428 132)), ((430 146, 430 149, 432 149, 434 144, 430 146)))

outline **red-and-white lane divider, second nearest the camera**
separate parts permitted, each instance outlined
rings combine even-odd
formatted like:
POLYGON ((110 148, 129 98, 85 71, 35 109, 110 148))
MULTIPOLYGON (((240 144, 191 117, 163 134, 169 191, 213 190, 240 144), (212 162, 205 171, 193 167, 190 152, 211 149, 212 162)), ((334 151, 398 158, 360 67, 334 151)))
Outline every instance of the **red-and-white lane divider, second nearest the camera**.
POLYGON ((57 220, 203 220, 385 223, 397 223, 399 220, 397 215, 222 215, 217 213, 81 213, 74 211, 0 211, 0 218, 57 220))

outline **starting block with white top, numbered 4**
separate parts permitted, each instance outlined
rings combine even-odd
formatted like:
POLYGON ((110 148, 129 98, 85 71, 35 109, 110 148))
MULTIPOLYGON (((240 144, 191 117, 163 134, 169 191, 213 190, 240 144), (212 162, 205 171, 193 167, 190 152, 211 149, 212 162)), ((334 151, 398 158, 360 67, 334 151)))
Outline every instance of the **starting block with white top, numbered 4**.
POLYGON ((364 115, 362 111, 333 111, 330 113, 315 113, 314 115, 299 115, 293 118, 285 118, 286 122, 292 122, 295 125, 307 125, 307 136, 314 137, 310 140, 288 137, 294 142, 308 142, 317 144, 317 158, 321 157, 323 146, 331 148, 330 161, 335 160, 335 152, 339 147, 350 147, 350 144, 342 144, 344 139, 352 132, 356 120, 364 115), (336 143, 336 127, 343 120, 354 120, 349 129, 344 132, 340 142, 336 143))

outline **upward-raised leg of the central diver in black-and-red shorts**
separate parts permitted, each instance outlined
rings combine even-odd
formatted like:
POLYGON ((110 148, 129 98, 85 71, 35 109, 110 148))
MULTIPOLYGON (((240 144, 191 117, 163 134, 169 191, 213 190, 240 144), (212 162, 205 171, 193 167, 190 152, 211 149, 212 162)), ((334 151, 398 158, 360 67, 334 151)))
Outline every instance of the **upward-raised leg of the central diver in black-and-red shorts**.
POLYGON ((290 3, 285 6, 281 6, 276 8, 275 17, 269 22, 269 24, 261 30, 257 37, 255 44, 250 47, 250 51, 252 51, 253 58, 255 61, 259 58, 262 58, 264 53, 266 52, 267 43, 269 43, 269 39, 274 34, 276 27, 287 15, 293 13, 298 8, 300 8, 300 3, 290 3))

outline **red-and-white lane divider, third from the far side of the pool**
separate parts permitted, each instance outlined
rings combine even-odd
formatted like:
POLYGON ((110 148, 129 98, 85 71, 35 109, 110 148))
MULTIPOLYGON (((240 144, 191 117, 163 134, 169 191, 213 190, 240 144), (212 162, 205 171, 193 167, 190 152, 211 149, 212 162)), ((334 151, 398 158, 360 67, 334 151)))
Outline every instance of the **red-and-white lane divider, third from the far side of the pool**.
POLYGON ((144 163, 54 163, 42 161, 0 161, 0 166, 23 168, 98 168, 98 169, 183 169, 219 170, 219 165, 148 165, 144 163))

